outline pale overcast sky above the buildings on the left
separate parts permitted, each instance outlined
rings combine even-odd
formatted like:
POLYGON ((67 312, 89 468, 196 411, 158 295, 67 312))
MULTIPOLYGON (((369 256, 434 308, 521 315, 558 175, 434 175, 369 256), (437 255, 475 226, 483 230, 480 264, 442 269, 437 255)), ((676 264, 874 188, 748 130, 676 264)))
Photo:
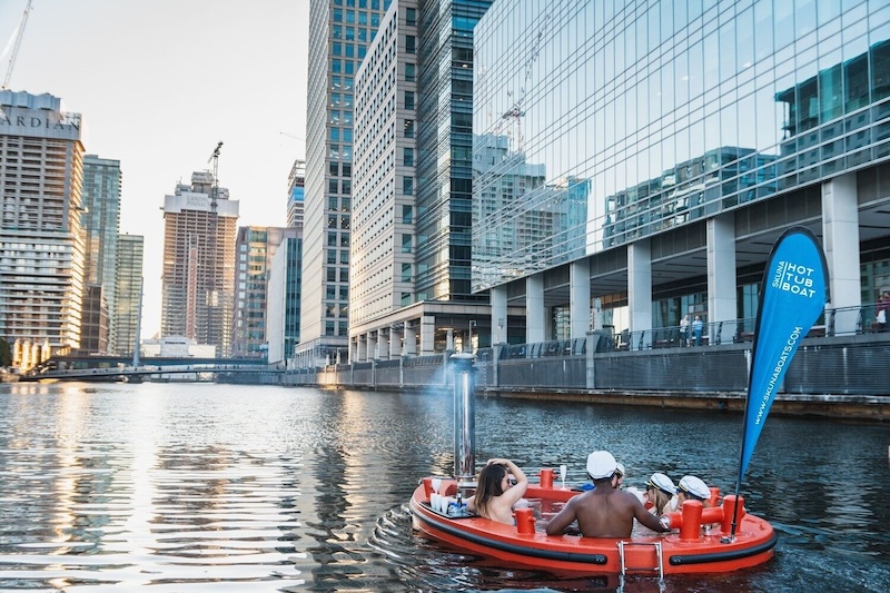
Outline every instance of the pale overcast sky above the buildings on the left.
MULTIPOLYGON (((0 0, 0 51, 27 0, 0 0)), ((305 158, 309 0, 33 0, 9 88, 83 118, 88 154, 120 160, 120 231, 144 235, 142 338, 160 329, 164 196, 209 170, 239 226, 285 226, 305 158)), ((0 81, 9 55, 0 61, 0 81)))

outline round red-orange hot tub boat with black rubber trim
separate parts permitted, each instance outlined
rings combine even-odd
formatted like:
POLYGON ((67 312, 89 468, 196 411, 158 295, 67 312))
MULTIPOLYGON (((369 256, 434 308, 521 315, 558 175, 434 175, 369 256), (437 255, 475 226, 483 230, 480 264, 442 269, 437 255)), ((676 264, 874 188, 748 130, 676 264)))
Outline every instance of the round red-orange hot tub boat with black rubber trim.
MULTIPOLYGON (((721 506, 709 508, 688 501, 682 514, 669 514, 671 526, 679 532, 656 534, 640 527, 651 535, 621 540, 547 535, 543 527, 535 528, 532 507, 516 511, 516 525, 469 514, 446 515, 431 506, 431 482, 424 478, 411 498, 416 530, 468 553, 552 572, 657 576, 731 572, 767 562, 777 543, 772 525, 746 514, 742 498, 735 536, 730 536, 735 495, 728 495, 721 506)), ((444 480, 437 494, 454 496, 457 485, 455 480, 444 480)), ((530 485, 525 497, 532 506, 540 505, 537 512, 547 518, 577 494, 564 487, 530 485)))

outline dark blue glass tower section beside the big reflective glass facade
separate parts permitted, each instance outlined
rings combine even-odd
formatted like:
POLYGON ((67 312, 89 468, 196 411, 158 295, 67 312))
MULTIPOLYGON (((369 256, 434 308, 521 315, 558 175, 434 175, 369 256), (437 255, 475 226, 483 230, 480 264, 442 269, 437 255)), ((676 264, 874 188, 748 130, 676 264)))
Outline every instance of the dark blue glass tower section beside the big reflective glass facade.
POLYGON ((416 299, 471 290, 473 28, 490 0, 418 2, 416 299))

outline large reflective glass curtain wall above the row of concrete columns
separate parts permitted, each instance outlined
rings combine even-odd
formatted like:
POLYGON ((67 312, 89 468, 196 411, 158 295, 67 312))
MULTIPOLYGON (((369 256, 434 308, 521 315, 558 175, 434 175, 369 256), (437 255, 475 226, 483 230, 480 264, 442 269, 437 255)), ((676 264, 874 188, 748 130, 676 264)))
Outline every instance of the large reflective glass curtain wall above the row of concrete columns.
MULTIPOLYGON (((493 210, 478 200, 474 290, 890 158, 884 1, 498 0, 476 27, 475 58, 475 156, 491 151, 486 137, 511 150, 478 174, 474 196, 502 191, 526 164, 545 168, 545 187, 586 179, 590 194, 557 241, 546 226, 518 244, 515 234, 553 194, 493 210)), ((676 324, 706 289, 653 289, 673 299, 653 320, 676 324)))

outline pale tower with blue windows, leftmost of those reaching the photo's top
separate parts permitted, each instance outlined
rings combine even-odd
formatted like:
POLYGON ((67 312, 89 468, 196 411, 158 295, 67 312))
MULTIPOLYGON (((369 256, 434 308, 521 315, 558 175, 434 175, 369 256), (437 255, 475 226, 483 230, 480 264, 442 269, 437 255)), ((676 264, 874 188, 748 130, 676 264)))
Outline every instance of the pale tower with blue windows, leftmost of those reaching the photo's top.
POLYGON ((299 364, 348 345, 355 73, 389 0, 309 4, 306 216, 299 364))

